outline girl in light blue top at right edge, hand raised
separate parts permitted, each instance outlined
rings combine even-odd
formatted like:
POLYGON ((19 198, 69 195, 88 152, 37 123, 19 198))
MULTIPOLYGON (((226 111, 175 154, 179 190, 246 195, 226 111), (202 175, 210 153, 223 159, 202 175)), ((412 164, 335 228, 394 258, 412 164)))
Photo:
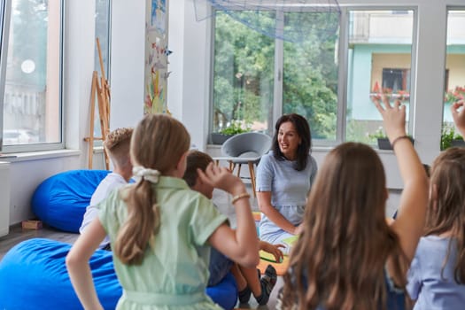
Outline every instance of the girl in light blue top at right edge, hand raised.
MULTIPOLYGON (((456 111, 461 105, 455 105, 456 111)), ((462 110, 463 111, 463 108, 462 110)), ((460 122, 457 128, 461 130, 460 122)), ((465 149, 450 148, 434 160, 426 233, 408 272, 414 309, 461 309, 465 305, 465 149)))

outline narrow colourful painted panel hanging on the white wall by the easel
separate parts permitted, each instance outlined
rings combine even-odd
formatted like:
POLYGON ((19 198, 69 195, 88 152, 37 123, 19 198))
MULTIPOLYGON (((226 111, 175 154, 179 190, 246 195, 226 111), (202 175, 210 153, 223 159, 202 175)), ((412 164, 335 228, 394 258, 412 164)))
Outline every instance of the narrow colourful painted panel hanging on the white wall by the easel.
POLYGON ((143 113, 169 113, 167 108, 167 2, 147 0, 143 113))

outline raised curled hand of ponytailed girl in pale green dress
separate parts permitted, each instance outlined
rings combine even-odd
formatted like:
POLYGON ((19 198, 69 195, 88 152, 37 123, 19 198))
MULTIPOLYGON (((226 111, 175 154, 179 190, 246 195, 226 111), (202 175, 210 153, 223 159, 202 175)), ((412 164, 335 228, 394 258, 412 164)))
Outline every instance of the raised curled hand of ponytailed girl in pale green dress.
POLYGON ((200 179, 214 188, 225 190, 233 196, 246 192, 241 179, 231 174, 226 167, 219 167, 212 162, 205 168, 205 173, 201 169, 197 171, 200 179))

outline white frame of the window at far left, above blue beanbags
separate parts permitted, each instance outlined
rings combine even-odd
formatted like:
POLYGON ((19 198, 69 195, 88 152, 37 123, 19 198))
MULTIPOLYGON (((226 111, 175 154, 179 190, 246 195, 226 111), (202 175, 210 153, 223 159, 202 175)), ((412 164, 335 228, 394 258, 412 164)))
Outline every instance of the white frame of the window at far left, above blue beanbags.
MULTIPOLYGON (((9 5, 7 9, 5 10, 4 13, 4 31, 6 31, 7 34, 10 33, 10 25, 12 22, 11 19, 11 13, 12 13, 12 0, 5 0, 5 2, 8 2, 9 5), (6 17, 8 19, 6 19, 6 17)), ((58 64, 58 105, 59 105, 59 112, 58 112, 58 122, 59 122, 59 136, 60 136, 60 141, 57 143, 31 143, 31 144, 18 144, 18 145, 2 145, 2 148, 0 149, 4 153, 13 153, 13 152, 27 152, 27 151, 52 151, 52 150, 61 150, 65 149, 65 105, 64 105, 64 81, 63 77, 65 76, 64 72, 64 54, 65 54, 65 31, 66 31, 66 0, 59 0, 59 13, 60 13, 60 18, 59 18, 59 23, 60 23, 60 29, 59 29, 59 64, 58 64)), ((7 35, 8 37, 8 35, 7 35)), ((9 39, 9 38, 8 38, 9 39)), ((8 43, 9 40, 5 41, 2 44, 2 49, 8 49, 8 43)), ((6 63, 7 63, 7 58, 6 58, 6 53, 2 53, 2 57, 0 60, 0 70, 2 75, 2 83, 0 83, 0 96, 4 98, 4 86, 5 86, 5 74, 6 74, 6 63), (5 57, 4 57, 5 55, 5 57)), ((4 99, 2 98, 2 101, 0 103, 0 137, 3 137, 3 131, 4 131, 4 99)))

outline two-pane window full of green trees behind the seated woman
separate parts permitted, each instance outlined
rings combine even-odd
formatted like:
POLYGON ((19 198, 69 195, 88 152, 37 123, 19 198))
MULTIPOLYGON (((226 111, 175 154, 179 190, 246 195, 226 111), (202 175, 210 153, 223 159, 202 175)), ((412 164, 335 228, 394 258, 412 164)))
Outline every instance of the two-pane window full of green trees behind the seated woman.
MULTIPOLYGON (((226 13, 216 13, 212 130, 220 131, 240 120, 252 130, 272 134, 275 120, 283 112, 298 112, 309 120, 314 138, 335 140, 338 35, 328 35, 321 26, 337 28, 337 16, 327 19, 301 11, 267 12, 260 18, 274 19, 276 14, 283 14, 276 20, 301 21, 306 38, 299 43, 283 42, 226 13)), ((285 36, 288 29, 283 28, 285 36)))

